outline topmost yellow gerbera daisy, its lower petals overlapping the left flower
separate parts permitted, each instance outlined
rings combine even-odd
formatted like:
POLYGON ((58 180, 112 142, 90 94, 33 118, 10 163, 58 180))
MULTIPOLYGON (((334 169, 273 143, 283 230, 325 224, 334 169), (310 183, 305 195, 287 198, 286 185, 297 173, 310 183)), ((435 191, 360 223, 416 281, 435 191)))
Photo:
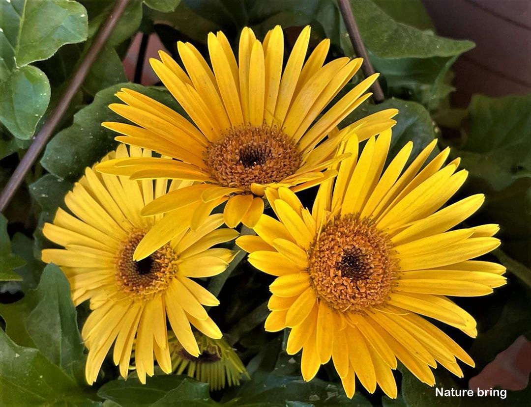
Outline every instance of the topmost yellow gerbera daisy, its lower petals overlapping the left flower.
MULTIPOLYGON (((151 66, 195 126, 159 102, 122 89, 117 96, 125 104, 115 103, 109 108, 136 126, 117 122, 102 125, 121 134, 116 137, 118 141, 150 148, 175 160, 112 160, 100 164, 97 170, 127 174, 133 180, 200 182, 154 200, 142 215, 167 213, 198 201, 201 205, 192 218, 195 228, 214 207, 228 201, 225 223, 235 227, 243 222, 253 227, 262 215, 266 187, 299 191, 336 175, 328 168, 345 158, 335 152, 347 135, 336 132, 336 126, 369 98, 371 94, 365 91, 378 76, 366 78, 329 106, 355 75, 362 59, 343 57, 324 64, 328 39, 306 59, 309 40, 307 26, 296 40, 284 72, 280 26, 269 31, 263 43, 251 29, 244 28, 238 60, 222 32, 210 33, 211 67, 190 43, 177 44, 186 72, 160 51, 160 60, 151 59, 151 66), (327 141, 321 143, 327 136, 327 141)), ((354 123, 358 138, 389 128, 397 112, 384 110, 354 123)), ((170 218, 160 222, 168 223, 164 233, 159 233, 145 250, 137 250, 135 258, 149 255, 175 235, 169 227, 170 218)))

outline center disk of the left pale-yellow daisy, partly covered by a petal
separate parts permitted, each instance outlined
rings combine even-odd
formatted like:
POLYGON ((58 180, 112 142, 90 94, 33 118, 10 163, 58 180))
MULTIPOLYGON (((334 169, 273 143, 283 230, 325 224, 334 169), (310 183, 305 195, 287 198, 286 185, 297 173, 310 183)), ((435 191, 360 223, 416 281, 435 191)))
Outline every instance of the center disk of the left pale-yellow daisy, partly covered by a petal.
POLYGON ((133 253, 144 235, 145 231, 136 231, 122 242, 115 265, 116 281, 122 291, 140 297, 166 289, 178 264, 177 255, 169 244, 145 259, 134 261, 133 253))

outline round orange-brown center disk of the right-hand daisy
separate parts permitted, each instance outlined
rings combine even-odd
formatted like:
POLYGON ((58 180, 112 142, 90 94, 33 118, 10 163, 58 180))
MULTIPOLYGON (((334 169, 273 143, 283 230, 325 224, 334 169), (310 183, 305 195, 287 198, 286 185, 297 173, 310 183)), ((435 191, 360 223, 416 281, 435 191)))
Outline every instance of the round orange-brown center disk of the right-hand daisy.
POLYGON ((369 219, 337 217, 323 227, 310 251, 316 294, 338 311, 363 312, 383 304, 396 276, 392 243, 369 219))

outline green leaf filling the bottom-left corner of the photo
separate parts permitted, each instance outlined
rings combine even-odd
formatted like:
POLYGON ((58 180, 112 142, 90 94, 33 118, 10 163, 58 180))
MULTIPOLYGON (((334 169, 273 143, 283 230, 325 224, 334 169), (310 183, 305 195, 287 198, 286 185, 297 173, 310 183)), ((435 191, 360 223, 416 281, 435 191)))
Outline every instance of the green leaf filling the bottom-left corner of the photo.
POLYGON ((0 329, 0 404, 100 406, 37 349, 22 347, 0 329))

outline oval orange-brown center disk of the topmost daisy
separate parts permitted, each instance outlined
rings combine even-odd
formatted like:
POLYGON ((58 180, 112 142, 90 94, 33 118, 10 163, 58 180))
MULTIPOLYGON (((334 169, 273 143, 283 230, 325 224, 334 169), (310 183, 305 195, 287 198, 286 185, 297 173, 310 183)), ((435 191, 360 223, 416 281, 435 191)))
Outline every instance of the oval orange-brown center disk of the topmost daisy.
POLYGON ((293 175, 301 158, 292 139, 263 125, 230 129, 210 143, 204 162, 220 185, 249 192, 252 183, 279 182, 293 175))

